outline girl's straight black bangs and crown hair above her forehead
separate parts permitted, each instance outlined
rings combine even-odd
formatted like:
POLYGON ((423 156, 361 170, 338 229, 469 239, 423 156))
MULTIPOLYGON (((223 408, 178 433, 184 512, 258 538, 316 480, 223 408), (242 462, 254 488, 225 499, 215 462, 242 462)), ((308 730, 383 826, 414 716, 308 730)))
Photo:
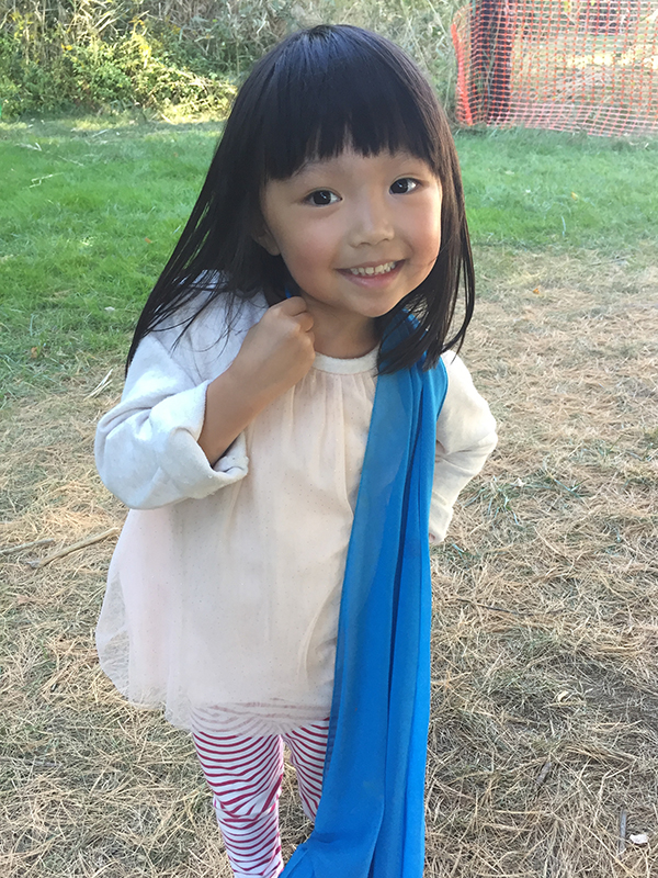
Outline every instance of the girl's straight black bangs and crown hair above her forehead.
POLYGON ((264 89, 261 185, 345 148, 405 150, 441 176, 441 110, 401 50, 349 26, 295 36, 280 47, 264 89))

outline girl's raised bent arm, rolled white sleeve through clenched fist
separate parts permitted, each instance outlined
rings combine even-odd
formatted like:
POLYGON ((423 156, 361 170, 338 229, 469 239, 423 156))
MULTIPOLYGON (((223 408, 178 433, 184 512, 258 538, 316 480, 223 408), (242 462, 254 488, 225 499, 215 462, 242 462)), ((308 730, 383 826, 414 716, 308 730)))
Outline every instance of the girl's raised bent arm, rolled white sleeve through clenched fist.
POLYGON ((247 475, 243 428, 310 369, 315 352, 302 299, 242 315, 220 342, 223 324, 208 313, 178 345, 179 327, 139 344, 95 440, 101 480, 126 506, 201 499, 247 475))

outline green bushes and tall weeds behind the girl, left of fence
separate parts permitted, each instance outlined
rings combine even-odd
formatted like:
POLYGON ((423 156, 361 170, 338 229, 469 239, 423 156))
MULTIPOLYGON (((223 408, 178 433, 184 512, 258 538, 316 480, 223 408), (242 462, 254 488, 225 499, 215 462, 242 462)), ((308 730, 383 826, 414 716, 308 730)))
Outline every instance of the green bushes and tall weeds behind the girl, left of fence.
POLYGON ((321 21, 402 45, 449 99, 449 24, 458 0, 0 0, 0 106, 131 106, 226 114, 236 83, 286 33, 321 21), (203 14, 198 13, 198 10, 203 14))

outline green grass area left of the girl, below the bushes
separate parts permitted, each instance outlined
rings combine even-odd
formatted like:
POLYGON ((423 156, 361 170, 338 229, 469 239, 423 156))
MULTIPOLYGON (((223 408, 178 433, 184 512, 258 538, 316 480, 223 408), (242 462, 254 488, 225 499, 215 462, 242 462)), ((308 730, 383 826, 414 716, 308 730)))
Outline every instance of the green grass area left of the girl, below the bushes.
POLYGON ((3 368, 67 372, 125 348, 219 125, 12 126, 0 142, 3 368), (54 128, 55 131, 53 131, 54 128))

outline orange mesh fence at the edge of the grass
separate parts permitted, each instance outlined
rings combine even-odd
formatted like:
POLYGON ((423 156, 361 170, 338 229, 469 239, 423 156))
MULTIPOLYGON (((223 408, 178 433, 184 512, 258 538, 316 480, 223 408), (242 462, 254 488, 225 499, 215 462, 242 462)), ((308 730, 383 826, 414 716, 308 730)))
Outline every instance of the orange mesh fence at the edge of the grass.
POLYGON ((472 0, 452 37, 463 125, 658 134, 658 0, 472 0))

